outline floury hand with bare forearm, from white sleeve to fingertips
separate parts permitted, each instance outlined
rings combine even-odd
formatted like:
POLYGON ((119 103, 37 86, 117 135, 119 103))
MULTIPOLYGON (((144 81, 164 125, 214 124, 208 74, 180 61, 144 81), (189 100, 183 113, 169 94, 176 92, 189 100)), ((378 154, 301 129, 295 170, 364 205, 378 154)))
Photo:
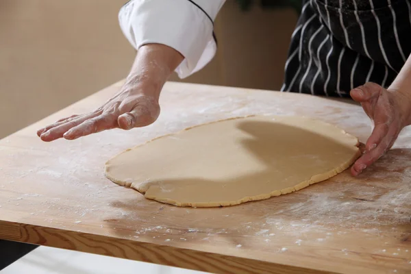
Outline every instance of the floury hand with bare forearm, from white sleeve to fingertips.
POLYGON ((158 99, 162 86, 183 59, 166 45, 140 47, 124 86, 112 99, 97 110, 47 125, 37 135, 45 142, 58 138, 74 140, 106 129, 132 129, 154 123, 160 115, 158 99))

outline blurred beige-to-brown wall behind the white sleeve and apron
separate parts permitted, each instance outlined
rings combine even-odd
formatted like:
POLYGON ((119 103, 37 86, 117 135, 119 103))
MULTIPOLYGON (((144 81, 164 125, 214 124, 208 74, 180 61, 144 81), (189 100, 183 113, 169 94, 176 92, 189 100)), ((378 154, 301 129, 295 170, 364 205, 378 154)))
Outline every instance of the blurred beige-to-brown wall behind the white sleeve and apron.
MULTIPOLYGON (((127 75, 135 53, 117 21, 125 1, 0 0, 0 138, 127 75)), ((296 21, 291 8, 242 12, 227 0, 216 57, 184 82, 278 90, 296 21)))

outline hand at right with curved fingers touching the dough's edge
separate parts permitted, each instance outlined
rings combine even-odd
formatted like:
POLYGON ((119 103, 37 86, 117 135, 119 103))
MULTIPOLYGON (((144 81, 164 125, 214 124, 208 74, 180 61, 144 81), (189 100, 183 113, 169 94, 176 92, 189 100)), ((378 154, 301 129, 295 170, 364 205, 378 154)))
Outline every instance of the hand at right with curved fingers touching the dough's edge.
POLYGON ((410 124, 411 98, 371 82, 354 88, 350 95, 374 124, 363 155, 351 167, 351 174, 357 176, 390 149, 401 129, 410 124))

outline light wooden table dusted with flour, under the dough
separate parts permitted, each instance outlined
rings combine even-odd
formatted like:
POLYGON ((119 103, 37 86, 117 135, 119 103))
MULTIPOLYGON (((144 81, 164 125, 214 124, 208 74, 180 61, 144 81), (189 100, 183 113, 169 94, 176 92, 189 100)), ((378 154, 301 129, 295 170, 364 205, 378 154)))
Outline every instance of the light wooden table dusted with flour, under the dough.
POLYGON ((47 143, 36 129, 97 108, 114 84, 0 141, 0 238, 212 273, 411 273, 411 130, 358 178, 227 208, 150 201, 103 175, 146 140, 247 114, 297 114, 366 140, 360 106, 310 95, 168 83, 149 127, 47 143))

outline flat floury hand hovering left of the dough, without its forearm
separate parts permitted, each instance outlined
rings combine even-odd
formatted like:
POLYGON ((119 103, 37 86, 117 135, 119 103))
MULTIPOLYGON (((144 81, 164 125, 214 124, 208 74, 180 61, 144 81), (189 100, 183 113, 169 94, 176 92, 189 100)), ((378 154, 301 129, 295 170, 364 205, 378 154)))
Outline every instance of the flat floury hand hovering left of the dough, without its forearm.
POLYGON ((129 89, 125 85, 101 108, 61 119, 38 130, 37 135, 45 142, 58 138, 74 140, 106 129, 132 129, 150 125, 158 118, 160 105, 158 98, 144 95, 143 91, 142 87, 129 89))

